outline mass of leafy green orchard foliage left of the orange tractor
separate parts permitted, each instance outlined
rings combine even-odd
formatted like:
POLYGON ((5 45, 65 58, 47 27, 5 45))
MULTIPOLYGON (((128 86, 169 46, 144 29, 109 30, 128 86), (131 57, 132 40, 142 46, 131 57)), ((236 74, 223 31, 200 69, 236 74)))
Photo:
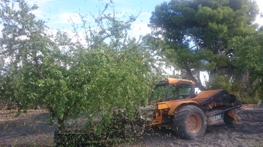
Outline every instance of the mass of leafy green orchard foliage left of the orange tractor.
POLYGON ((32 104, 44 105, 51 122, 58 119, 60 131, 66 131, 65 120, 84 113, 89 116, 87 126, 100 131, 111 123, 113 108, 126 109, 132 118, 146 103, 159 73, 151 50, 124 35, 134 17, 124 22, 101 14, 95 21, 99 32, 86 31, 89 46, 84 47, 66 33, 58 31, 55 37, 45 33, 45 23, 32 14, 38 7, 17 1, 19 9, 10 7, 8 0, 0 5, 4 26, 0 56, 8 61, 1 61, 0 84, 2 95, 19 98, 19 111, 32 104), (110 43, 104 42, 106 38, 110 43), (12 90, 18 85, 15 94, 12 90), (92 121, 94 114, 103 118, 98 124, 92 121))

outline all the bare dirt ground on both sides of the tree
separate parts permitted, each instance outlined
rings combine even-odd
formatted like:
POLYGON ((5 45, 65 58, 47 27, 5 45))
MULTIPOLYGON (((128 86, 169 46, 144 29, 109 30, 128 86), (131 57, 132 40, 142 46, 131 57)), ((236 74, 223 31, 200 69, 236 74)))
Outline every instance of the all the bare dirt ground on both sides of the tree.
MULTIPOLYGON (((146 131, 117 147, 263 147, 263 106, 244 105, 236 110, 235 125, 207 125, 204 136, 183 140, 172 130, 146 131)), ((49 113, 30 110, 16 117, 14 110, 0 111, 0 147, 54 147, 57 122, 49 125, 49 113)))

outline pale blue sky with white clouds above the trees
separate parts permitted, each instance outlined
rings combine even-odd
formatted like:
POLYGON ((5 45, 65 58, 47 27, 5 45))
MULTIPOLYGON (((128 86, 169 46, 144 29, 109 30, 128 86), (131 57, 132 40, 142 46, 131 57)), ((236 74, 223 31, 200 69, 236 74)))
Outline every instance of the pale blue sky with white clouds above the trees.
MULTIPOLYGON (((86 20, 92 20, 93 15, 98 15, 99 10, 103 10, 105 3, 110 0, 27 0, 28 4, 38 5, 38 10, 34 14, 44 21, 50 29, 59 29, 61 31, 72 31, 72 21, 75 24, 82 24, 78 14, 86 16, 86 20)), ((114 10, 120 19, 128 20, 128 16, 138 16, 132 23, 130 36, 138 38, 140 35, 150 33, 147 24, 150 23, 151 12, 156 5, 163 3, 165 0, 112 0, 114 10)), ((167 0, 166 0, 167 1, 167 0)), ((169 1, 169 0, 168 0, 169 1)), ((260 12, 263 13, 263 0, 256 0, 260 12)), ((108 11, 112 13, 113 9, 108 11)), ((255 23, 263 25, 263 18, 257 17, 255 23)))

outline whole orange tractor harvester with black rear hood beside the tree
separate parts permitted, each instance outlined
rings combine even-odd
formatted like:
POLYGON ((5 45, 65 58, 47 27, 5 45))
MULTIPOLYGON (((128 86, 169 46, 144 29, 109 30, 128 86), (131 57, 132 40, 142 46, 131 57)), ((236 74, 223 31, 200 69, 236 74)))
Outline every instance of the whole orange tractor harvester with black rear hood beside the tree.
POLYGON ((172 126, 184 139, 202 136, 207 123, 224 120, 233 124, 237 115, 231 111, 242 106, 226 90, 207 90, 195 93, 195 82, 167 78, 154 82, 155 88, 146 107, 140 107, 139 117, 144 126, 172 126))

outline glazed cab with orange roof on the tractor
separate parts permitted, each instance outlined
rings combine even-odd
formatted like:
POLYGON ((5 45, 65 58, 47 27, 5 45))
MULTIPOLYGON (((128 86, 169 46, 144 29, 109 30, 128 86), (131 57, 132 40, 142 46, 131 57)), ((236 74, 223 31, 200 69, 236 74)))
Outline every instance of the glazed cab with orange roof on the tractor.
POLYGON ((195 97, 195 83, 188 80, 166 78, 164 81, 154 82, 155 87, 149 98, 149 105, 195 97))

